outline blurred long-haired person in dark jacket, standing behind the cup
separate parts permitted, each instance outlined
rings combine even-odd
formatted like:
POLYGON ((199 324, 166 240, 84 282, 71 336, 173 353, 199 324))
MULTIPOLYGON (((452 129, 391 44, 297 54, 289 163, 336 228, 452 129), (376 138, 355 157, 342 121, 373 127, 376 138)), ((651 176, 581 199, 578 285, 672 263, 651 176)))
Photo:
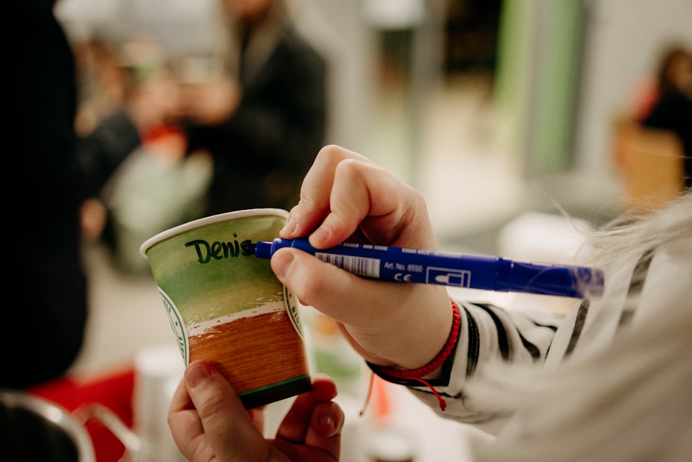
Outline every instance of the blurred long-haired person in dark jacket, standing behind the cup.
POLYGON ((221 76, 181 87, 189 150, 214 161, 206 214, 290 208, 325 137, 325 60, 284 0, 219 0, 221 76))

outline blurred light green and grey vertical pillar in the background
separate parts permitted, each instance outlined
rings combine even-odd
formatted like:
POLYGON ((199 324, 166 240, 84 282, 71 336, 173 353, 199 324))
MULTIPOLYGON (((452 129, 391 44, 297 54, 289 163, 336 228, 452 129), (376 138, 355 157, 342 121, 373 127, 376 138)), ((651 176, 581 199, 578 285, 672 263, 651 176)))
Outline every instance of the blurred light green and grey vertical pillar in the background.
POLYGON ((571 165, 583 21, 578 0, 504 0, 498 114, 508 148, 531 174, 571 165))

